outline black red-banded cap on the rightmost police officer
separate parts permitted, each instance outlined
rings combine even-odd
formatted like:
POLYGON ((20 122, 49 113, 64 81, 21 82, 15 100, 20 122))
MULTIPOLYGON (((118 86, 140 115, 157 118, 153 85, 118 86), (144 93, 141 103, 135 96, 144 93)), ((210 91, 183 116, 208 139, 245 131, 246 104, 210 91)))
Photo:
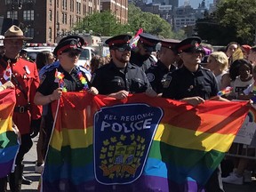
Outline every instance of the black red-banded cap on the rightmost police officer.
POLYGON ((177 44, 178 52, 204 52, 201 42, 202 39, 199 36, 188 37, 177 44))

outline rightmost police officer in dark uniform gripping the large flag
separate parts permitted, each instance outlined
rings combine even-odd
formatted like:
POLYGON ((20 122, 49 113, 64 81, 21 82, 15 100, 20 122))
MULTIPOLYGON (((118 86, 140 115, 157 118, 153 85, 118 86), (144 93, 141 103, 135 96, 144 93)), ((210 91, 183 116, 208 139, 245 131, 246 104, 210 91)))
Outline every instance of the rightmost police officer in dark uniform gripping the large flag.
MULTIPOLYGON (((218 83, 212 71, 201 67, 203 47, 200 45, 201 38, 188 37, 177 45, 183 66, 172 73, 168 87, 164 88, 163 97, 172 100, 182 100, 196 106, 204 100, 223 100, 217 97, 219 92, 218 83)), ((223 192, 220 166, 213 172, 212 177, 205 186, 206 192, 223 192)))

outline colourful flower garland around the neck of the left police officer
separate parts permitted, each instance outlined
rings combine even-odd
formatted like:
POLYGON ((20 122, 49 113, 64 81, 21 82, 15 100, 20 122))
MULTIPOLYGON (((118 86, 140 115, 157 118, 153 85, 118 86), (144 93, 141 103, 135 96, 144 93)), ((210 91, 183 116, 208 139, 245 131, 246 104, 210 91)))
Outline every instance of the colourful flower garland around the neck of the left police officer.
MULTIPOLYGON (((81 71, 77 72, 77 76, 78 76, 80 82, 84 85, 83 90, 81 90, 80 92, 85 92, 85 91, 89 90, 88 82, 86 81, 86 78, 83 76, 81 71)), ((60 71, 58 71, 57 68, 56 68, 56 72, 55 72, 54 82, 59 83, 59 87, 62 89, 62 92, 68 92, 67 87, 65 86, 65 82, 64 82, 64 74, 61 73, 60 71)))

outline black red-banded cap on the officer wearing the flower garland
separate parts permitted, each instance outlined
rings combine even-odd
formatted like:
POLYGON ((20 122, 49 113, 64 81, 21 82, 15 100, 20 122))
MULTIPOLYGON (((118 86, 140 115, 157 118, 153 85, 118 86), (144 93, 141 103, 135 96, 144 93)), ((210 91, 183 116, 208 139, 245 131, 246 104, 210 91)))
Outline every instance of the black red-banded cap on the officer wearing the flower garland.
POLYGON ((67 52, 68 50, 77 50, 82 52, 83 45, 84 38, 82 36, 65 36, 55 47, 53 54, 58 56, 61 52, 67 52))

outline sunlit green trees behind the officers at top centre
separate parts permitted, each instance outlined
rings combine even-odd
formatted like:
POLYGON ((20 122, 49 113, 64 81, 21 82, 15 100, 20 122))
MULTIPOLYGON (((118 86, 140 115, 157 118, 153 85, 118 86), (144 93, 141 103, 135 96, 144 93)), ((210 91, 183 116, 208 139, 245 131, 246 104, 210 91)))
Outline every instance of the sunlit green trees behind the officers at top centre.
POLYGON ((75 30, 89 32, 101 36, 116 36, 119 34, 131 33, 133 36, 139 28, 143 28, 144 32, 164 36, 165 38, 179 37, 182 39, 184 33, 180 31, 174 34, 170 23, 159 17, 159 15, 150 12, 141 12, 140 8, 134 4, 128 7, 128 23, 125 25, 116 21, 116 17, 109 11, 94 12, 84 17, 81 22, 76 23, 75 30))

